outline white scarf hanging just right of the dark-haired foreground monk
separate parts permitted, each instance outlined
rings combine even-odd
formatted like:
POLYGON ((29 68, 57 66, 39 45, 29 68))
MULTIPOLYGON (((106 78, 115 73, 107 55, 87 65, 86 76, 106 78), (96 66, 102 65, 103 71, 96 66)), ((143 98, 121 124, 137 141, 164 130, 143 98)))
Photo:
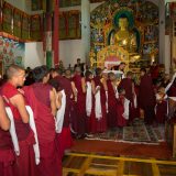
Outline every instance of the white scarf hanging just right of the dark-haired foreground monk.
POLYGON ((63 129, 63 122, 64 122, 64 116, 65 116, 65 108, 66 108, 66 95, 65 91, 61 91, 63 97, 62 97, 62 107, 61 109, 57 110, 56 114, 56 133, 61 133, 63 129))

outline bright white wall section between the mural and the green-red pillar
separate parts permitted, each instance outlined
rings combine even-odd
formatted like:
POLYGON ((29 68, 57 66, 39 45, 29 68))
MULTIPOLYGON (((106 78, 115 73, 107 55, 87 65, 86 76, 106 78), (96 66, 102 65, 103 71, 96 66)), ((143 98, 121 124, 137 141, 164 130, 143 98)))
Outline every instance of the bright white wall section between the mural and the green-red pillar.
POLYGON ((24 67, 34 68, 44 65, 42 42, 25 43, 24 67))

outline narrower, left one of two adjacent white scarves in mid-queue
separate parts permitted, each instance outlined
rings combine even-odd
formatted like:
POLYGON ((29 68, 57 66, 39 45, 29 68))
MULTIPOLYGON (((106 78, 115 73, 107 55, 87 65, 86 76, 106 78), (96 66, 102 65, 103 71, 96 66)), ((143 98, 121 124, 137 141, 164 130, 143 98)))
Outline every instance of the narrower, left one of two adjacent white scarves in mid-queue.
POLYGON ((87 81, 86 113, 88 117, 90 117, 91 114, 91 108, 92 108, 91 82, 87 81))

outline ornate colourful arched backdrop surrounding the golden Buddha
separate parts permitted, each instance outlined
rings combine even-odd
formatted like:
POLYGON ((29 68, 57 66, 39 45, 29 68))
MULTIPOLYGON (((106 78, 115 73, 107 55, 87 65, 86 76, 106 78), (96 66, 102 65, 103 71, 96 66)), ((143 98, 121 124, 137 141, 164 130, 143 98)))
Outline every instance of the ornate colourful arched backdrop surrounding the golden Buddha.
POLYGON ((110 45, 110 32, 118 30, 116 20, 125 15, 134 32, 138 32, 138 52, 151 55, 158 52, 158 7, 144 0, 109 0, 90 14, 90 44, 96 54, 110 45), (127 10, 125 10, 127 9, 127 10), (132 15, 129 15, 131 11, 132 15))

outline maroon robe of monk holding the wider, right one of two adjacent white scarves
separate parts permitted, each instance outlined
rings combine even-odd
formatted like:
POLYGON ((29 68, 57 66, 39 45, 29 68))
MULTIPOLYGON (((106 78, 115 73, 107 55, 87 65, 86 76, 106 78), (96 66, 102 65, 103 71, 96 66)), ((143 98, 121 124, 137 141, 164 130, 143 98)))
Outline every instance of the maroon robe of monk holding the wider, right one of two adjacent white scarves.
POLYGON ((106 132, 107 131, 107 110, 106 110, 106 90, 103 88, 103 85, 101 82, 101 78, 99 76, 96 76, 94 78, 95 86, 100 86, 100 99, 101 99, 101 113, 102 117, 100 120, 97 120, 97 131, 98 132, 106 132))

